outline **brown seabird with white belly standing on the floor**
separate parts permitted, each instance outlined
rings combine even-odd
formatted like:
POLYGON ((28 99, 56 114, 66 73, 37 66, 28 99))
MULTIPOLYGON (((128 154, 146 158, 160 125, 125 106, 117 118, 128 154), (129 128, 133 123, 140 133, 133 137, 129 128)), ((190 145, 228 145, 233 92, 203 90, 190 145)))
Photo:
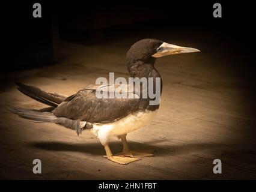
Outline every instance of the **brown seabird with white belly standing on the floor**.
MULTIPOLYGON (((162 78, 154 67, 157 58, 180 53, 200 52, 192 47, 181 47, 165 43, 162 40, 145 38, 133 44, 126 53, 127 70, 130 77, 142 79, 149 83, 149 79, 160 79, 160 95, 162 94, 162 78)), ((129 164, 142 160, 142 157, 153 156, 153 151, 130 150, 126 136, 131 131, 144 127, 155 118, 160 101, 153 101, 150 97, 141 97, 142 91, 131 89, 126 85, 124 94, 131 94, 129 98, 99 98, 97 93, 110 94, 110 88, 118 88, 121 84, 114 85, 88 85, 73 95, 67 96, 49 93, 34 86, 16 82, 17 89, 34 100, 40 101, 49 107, 43 109, 23 109, 10 106, 10 112, 30 119, 35 122, 52 122, 63 127, 75 130, 79 135, 82 131, 90 131, 105 148, 105 157, 118 164, 129 164), (123 151, 113 155, 109 148, 111 137, 118 137, 123 143, 123 151)), ((139 86, 141 88, 141 85, 139 86)), ((147 95, 148 96, 148 93, 147 95)))

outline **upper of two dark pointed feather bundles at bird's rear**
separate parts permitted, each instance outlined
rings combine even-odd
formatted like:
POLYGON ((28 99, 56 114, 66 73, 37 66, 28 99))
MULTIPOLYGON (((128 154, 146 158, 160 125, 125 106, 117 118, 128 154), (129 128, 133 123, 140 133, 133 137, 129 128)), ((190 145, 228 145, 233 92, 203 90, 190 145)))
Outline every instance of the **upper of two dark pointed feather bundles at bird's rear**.
POLYGON ((66 95, 60 95, 60 94, 52 94, 45 92, 39 88, 36 88, 34 86, 28 86, 24 85, 20 82, 15 82, 17 86, 19 86, 17 89, 22 92, 23 94, 27 95, 28 97, 37 100, 41 103, 47 104, 48 106, 57 107, 58 104, 60 104, 62 101, 64 101, 67 96, 66 95))

